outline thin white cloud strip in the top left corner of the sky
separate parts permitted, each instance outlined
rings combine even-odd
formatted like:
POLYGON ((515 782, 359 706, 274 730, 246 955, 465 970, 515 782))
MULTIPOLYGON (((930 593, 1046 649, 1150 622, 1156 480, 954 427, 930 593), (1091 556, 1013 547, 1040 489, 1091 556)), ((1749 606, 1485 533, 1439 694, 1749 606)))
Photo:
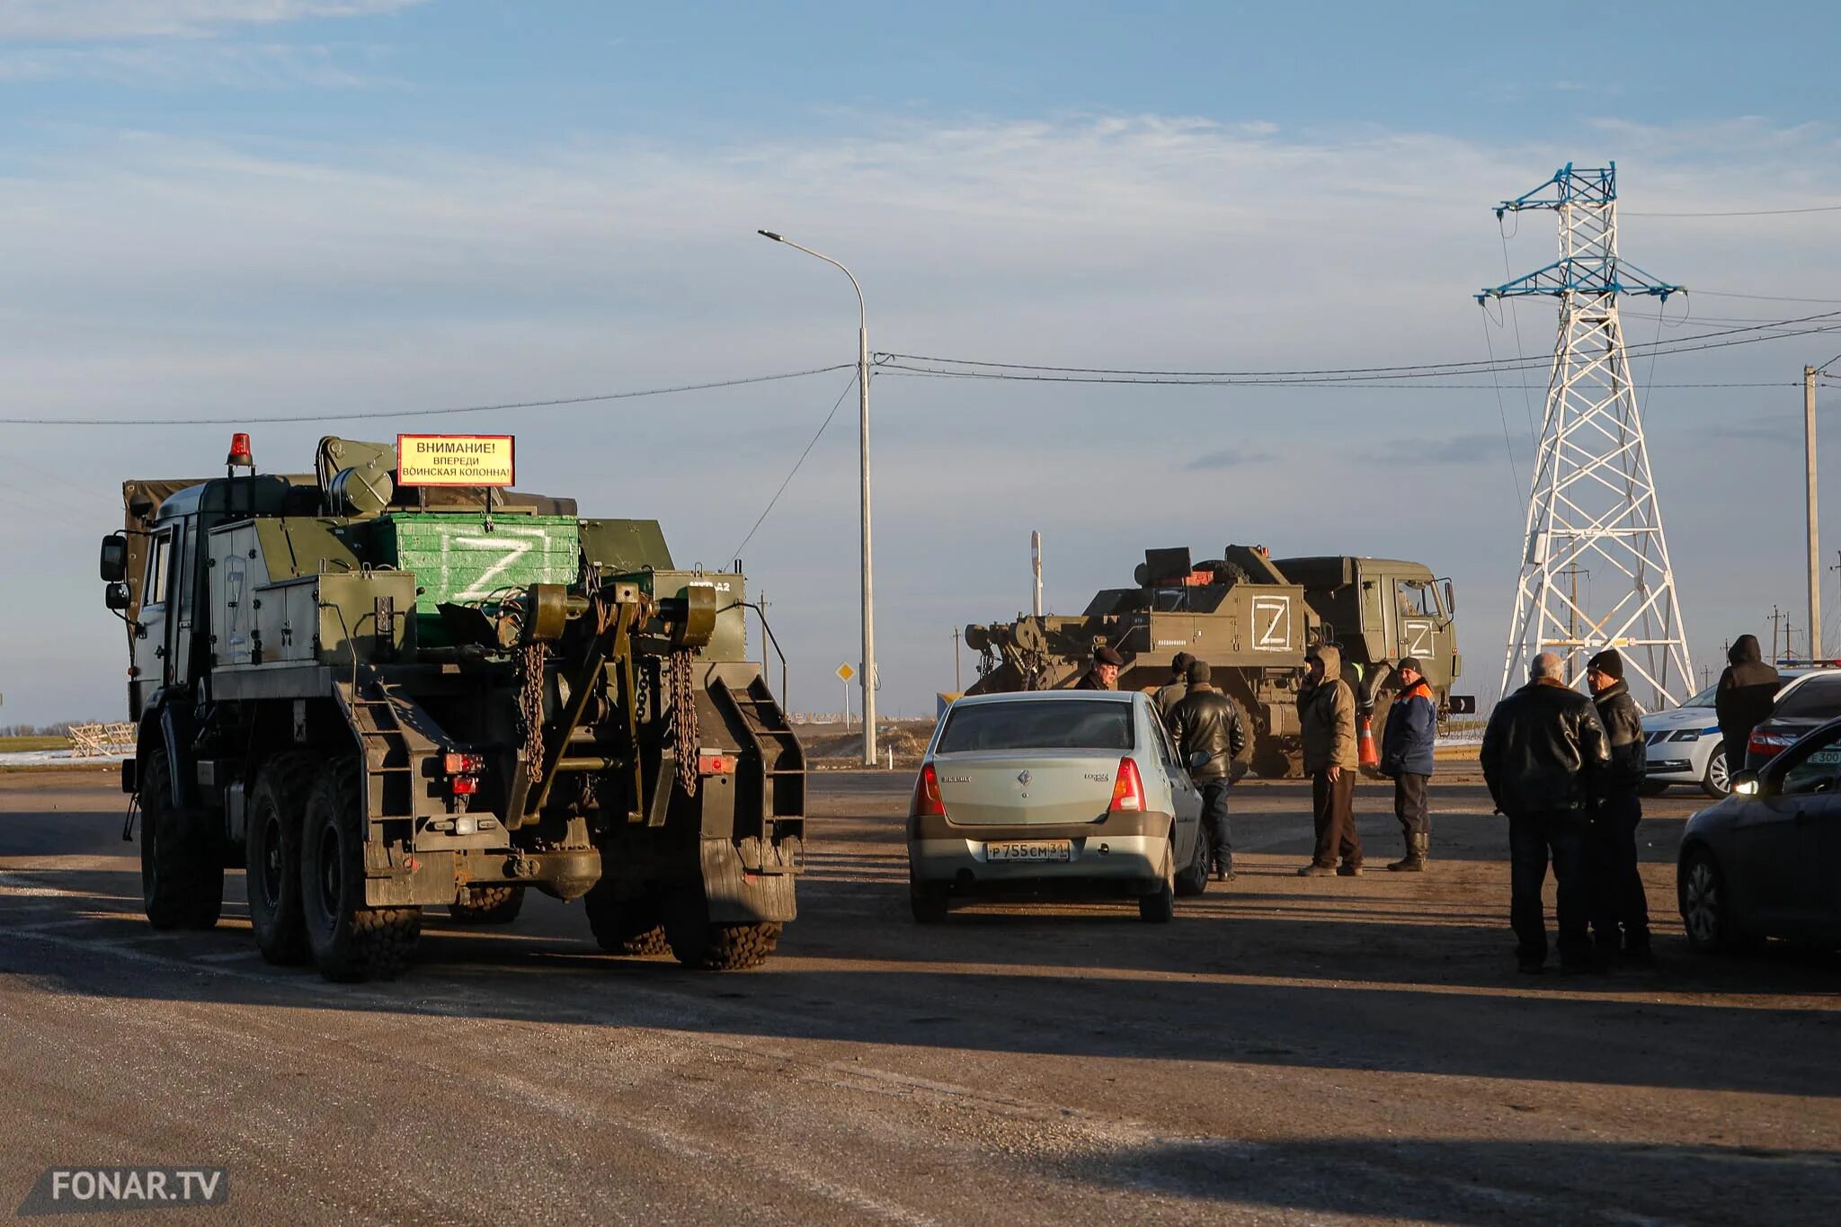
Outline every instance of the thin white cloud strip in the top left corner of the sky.
POLYGON ((0 0, 0 40, 105 42, 221 33, 328 17, 374 17, 422 0, 0 0))

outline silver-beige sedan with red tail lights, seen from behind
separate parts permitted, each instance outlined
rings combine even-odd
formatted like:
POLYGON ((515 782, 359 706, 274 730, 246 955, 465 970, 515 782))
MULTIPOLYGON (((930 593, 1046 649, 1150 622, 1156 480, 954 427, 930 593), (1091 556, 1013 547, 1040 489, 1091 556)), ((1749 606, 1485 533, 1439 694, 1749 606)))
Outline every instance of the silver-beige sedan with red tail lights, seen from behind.
POLYGON ((1202 795, 1147 695, 1042 690, 957 699, 908 817, 913 916, 957 898, 1136 898, 1167 922, 1208 887, 1202 795))

